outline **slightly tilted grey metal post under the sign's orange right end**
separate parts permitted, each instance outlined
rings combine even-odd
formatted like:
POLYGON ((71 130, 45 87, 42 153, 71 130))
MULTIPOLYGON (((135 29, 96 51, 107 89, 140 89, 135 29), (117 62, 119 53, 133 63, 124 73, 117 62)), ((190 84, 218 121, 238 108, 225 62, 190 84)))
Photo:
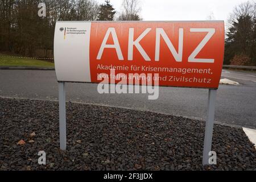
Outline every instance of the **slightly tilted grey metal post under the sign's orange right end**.
POLYGON ((209 89, 207 121, 205 123, 203 165, 209 164, 209 152, 212 150, 212 134, 214 124, 214 110, 216 101, 216 89, 209 89))

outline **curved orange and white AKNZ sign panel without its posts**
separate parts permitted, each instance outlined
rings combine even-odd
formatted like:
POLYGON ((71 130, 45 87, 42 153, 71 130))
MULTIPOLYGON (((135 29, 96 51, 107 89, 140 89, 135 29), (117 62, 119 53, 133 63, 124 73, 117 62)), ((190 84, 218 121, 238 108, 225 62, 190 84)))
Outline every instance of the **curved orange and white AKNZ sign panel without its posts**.
POLYGON ((59 22, 56 74, 59 81, 101 82, 99 74, 115 69, 127 76, 158 73, 159 86, 218 88, 224 36, 222 21, 59 22))

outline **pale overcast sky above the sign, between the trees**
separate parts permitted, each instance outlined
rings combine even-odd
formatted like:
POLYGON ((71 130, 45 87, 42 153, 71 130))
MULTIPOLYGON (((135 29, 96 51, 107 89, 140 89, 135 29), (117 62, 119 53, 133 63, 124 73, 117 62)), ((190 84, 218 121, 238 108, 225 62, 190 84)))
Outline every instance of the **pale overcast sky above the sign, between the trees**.
MULTIPOLYGON (((104 0, 96 0, 100 3, 104 0)), ((141 0, 143 20, 227 20, 233 8, 247 0, 141 0)), ((117 11, 122 0, 110 0, 117 11)))

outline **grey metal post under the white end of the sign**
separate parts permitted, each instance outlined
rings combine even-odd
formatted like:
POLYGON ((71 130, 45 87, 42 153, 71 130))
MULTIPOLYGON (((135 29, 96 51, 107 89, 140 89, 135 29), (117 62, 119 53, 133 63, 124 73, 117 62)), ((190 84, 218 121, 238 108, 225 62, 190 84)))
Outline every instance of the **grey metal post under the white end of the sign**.
POLYGON ((60 124, 60 150, 66 150, 66 94, 65 82, 59 82, 59 124, 60 124))

